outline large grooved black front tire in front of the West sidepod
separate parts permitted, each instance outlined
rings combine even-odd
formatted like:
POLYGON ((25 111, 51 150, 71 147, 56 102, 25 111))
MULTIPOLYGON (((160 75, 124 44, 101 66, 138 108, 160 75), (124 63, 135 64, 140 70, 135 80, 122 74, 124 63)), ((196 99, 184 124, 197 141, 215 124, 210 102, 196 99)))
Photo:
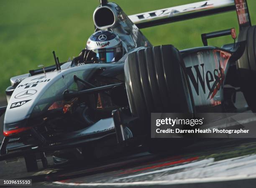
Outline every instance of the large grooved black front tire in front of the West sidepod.
MULTIPOLYGON (((169 152, 164 146, 173 141, 150 138, 151 112, 192 115, 194 103, 190 96, 191 88, 182 67, 182 56, 172 45, 144 48, 129 54, 125 60, 125 86, 129 105, 133 116, 139 117, 143 130, 146 130, 144 146, 149 152, 169 152)), ((179 146, 176 144, 177 148, 184 145, 187 142, 179 146)))

